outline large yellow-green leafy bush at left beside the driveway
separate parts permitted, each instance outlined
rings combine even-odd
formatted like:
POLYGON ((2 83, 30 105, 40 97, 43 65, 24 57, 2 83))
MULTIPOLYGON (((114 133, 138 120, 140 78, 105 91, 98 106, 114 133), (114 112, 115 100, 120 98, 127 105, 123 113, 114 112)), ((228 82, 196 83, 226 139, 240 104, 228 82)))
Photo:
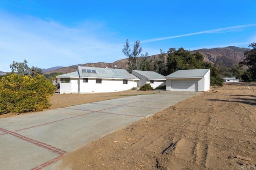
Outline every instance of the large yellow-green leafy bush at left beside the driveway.
POLYGON ((50 106, 55 86, 43 75, 10 74, 0 80, 0 115, 42 111, 50 106))

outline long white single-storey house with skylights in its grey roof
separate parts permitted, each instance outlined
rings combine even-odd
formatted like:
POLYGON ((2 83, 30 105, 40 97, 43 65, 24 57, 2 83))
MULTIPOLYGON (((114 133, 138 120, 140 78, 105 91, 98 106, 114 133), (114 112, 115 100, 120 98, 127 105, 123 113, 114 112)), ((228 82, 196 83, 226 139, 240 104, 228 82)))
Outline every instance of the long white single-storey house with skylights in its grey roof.
POLYGON ((138 77, 125 69, 78 66, 78 71, 56 76, 60 93, 104 93, 137 87, 138 77))

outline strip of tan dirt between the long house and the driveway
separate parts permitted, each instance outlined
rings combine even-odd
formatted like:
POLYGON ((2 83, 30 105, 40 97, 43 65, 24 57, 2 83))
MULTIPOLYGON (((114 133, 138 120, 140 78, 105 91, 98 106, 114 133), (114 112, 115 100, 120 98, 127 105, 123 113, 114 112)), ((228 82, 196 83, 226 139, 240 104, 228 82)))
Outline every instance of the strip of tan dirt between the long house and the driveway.
MULTIPOLYGON (((96 101, 104 101, 109 99, 117 99, 121 97, 127 96, 134 96, 134 95, 146 95, 146 94, 153 94, 158 93, 158 91, 137 91, 137 90, 126 90, 120 92, 113 92, 113 93, 90 93, 90 94, 54 94, 53 97, 50 98, 51 106, 49 109, 57 109, 57 108, 64 108, 73 105, 81 105, 85 103, 92 103, 96 101)), ((45 109, 45 110, 49 110, 45 109)), ((44 110, 44 111, 45 111, 44 110)), ((24 115, 24 114, 36 114, 39 112, 30 112, 30 113, 8 113, 4 115, 0 115, 0 118, 6 117, 13 117, 17 115, 24 115)))

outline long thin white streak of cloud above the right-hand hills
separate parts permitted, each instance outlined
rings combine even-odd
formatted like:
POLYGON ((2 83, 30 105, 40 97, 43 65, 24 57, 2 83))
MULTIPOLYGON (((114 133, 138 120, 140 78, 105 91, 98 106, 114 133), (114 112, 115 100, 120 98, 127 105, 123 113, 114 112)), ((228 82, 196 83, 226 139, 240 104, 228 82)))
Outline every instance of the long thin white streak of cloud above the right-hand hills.
POLYGON ((256 26, 256 24, 247 24, 247 25, 241 25, 241 26, 231 26, 231 27, 226 27, 226 28, 218 28, 218 29, 214 29, 214 30, 206 30, 206 31, 194 32, 194 33, 183 34, 183 35, 178 35, 178 36, 153 38, 153 39, 149 39, 149 40, 140 41, 140 43, 156 42, 156 41, 168 40, 168 39, 172 39, 172 38, 193 36, 193 35, 198 35, 198 34, 221 33, 221 32, 224 32, 224 31, 226 31, 226 32, 234 32, 234 31, 237 31, 237 29, 239 29, 239 28, 253 27, 253 26, 256 26))

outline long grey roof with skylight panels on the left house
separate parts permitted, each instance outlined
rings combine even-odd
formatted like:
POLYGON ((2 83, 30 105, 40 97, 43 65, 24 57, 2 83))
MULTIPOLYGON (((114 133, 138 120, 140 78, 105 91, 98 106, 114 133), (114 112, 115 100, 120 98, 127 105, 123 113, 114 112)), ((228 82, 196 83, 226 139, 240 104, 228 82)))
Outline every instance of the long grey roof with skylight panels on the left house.
POLYGON ((80 77, 104 78, 104 79, 136 79, 125 69, 98 68, 98 67, 83 67, 78 66, 80 77))

